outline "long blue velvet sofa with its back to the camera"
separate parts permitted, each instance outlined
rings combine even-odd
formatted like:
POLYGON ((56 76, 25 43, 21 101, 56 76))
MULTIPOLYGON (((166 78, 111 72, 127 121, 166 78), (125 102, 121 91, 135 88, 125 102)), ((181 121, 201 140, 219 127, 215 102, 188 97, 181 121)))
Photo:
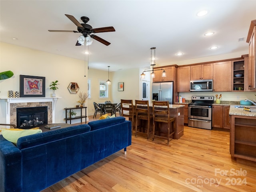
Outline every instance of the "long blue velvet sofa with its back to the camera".
POLYGON ((0 191, 39 192, 131 145, 131 122, 108 118, 24 136, 0 135, 0 191))

